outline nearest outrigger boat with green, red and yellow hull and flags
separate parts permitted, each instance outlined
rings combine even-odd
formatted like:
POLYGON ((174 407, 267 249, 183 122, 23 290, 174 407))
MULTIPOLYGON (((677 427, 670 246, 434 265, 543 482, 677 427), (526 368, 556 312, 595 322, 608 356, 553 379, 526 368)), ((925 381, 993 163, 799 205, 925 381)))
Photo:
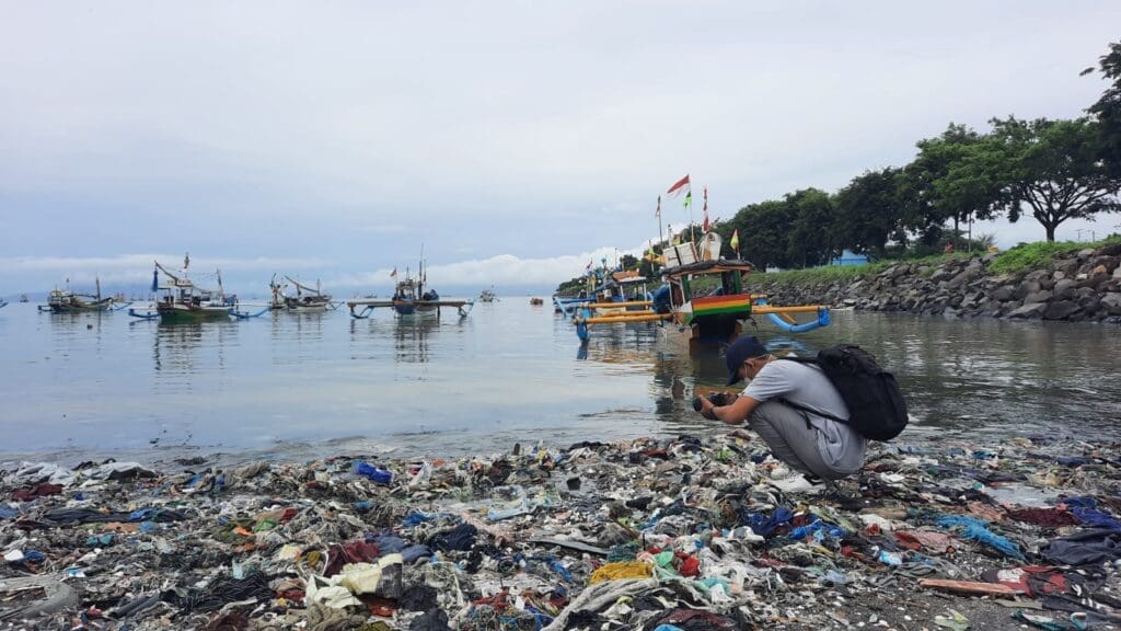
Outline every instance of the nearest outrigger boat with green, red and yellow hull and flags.
POLYGON ((728 344, 735 339, 743 322, 754 316, 767 316, 782 331, 798 333, 831 322, 830 310, 818 304, 775 307, 767 296, 751 294, 745 280, 754 266, 739 258, 720 257, 720 238, 705 235, 703 247, 686 243, 666 248, 666 267, 661 269, 665 284, 654 292, 649 307, 638 310, 600 313, 600 303, 585 304, 574 318, 576 335, 589 338, 592 327, 609 323, 663 322, 667 329, 683 333, 691 346, 728 344), (812 314, 813 319, 798 320, 812 314))

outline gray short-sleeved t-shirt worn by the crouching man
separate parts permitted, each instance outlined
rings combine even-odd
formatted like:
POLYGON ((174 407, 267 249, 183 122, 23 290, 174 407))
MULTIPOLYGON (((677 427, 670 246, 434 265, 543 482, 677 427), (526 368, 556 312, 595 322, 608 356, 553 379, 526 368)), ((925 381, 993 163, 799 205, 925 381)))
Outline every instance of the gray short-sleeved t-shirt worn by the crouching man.
MULTIPOLYGON (((793 403, 817 410, 840 419, 849 418, 849 408, 841 394, 821 368, 798 362, 768 362, 751 379, 743 394, 759 402, 786 399, 793 403)), ((817 430, 817 450, 822 456, 836 461, 842 454, 860 445, 863 452, 868 439, 856 433, 845 423, 839 423, 812 412, 806 413, 809 424, 817 430)))

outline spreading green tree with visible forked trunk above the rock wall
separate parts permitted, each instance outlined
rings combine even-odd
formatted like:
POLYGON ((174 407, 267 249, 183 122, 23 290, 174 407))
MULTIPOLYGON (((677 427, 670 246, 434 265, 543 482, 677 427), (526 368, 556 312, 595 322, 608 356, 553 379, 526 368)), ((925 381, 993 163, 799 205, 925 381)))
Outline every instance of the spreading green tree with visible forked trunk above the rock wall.
POLYGON ((988 147, 979 152, 1002 186, 990 208, 1017 221, 1030 210, 1055 240, 1055 229, 1068 219, 1093 220, 1099 212, 1121 210, 1117 194, 1121 174, 1099 156, 1100 124, 1085 118, 1032 121, 1009 117, 993 120, 988 147))

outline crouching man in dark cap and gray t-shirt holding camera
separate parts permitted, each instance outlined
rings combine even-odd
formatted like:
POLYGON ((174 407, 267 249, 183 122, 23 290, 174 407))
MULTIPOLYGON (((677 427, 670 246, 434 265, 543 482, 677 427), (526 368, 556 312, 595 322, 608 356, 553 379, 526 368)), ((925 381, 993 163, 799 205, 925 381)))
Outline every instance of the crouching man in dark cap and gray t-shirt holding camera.
POLYGON ((841 479, 861 469, 868 439, 846 423, 808 411, 849 418, 849 408, 821 368, 776 360, 754 336, 732 342, 725 358, 728 385, 744 378, 751 383, 728 405, 715 406, 702 396, 702 414, 729 424, 745 420, 776 458, 809 477, 841 479))

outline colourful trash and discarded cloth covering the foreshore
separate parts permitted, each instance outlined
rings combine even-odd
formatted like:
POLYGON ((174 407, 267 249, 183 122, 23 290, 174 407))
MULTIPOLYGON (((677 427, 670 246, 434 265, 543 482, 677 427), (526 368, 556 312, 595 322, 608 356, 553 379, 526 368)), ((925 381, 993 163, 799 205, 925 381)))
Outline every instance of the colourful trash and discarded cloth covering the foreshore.
POLYGON ((1121 628, 1121 443, 734 430, 458 460, 20 463, 0 629, 1121 628))

